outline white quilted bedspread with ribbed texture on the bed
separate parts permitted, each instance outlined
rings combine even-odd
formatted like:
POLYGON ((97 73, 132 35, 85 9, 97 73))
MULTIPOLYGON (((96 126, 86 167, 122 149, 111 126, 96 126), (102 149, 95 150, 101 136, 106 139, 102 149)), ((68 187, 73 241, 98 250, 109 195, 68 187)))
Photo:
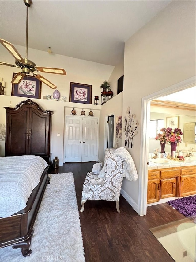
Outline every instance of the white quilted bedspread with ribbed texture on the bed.
POLYGON ((0 217, 24 209, 47 162, 39 156, 0 157, 0 217))

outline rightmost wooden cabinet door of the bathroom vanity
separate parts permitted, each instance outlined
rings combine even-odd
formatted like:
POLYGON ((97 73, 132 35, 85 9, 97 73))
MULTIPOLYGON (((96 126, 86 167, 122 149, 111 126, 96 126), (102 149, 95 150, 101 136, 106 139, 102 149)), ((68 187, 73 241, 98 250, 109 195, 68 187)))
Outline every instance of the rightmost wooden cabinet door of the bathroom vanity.
POLYGON ((196 194, 196 175, 181 176, 180 196, 189 196, 196 194))

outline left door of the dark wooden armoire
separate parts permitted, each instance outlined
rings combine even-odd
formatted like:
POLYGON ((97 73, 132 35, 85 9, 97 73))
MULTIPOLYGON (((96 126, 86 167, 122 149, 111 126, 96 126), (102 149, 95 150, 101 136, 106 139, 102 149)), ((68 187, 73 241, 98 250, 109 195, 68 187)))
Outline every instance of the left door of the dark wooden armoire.
POLYGON ((9 115, 9 130, 6 131, 6 156, 28 154, 28 117, 28 110, 9 115))

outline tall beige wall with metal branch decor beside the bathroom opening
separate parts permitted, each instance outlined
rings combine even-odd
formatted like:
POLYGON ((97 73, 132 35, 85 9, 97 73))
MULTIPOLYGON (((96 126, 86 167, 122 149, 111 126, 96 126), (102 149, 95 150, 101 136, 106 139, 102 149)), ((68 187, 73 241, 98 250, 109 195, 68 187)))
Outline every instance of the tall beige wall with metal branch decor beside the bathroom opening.
MULTIPOLYGON (((141 100, 158 90, 195 76, 195 2, 173 1, 125 43, 123 117, 130 107, 141 124, 141 100)), ((128 149, 141 175, 141 130, 128 149)), ((122 136, 122 144, 125 134, 122 136)), ((146 167, 147 168, 147 167, 146 167)), ((123 181, 136 205, 139 179, 123 181)), ((138 211, 138 210, 136 210, 138 211)))

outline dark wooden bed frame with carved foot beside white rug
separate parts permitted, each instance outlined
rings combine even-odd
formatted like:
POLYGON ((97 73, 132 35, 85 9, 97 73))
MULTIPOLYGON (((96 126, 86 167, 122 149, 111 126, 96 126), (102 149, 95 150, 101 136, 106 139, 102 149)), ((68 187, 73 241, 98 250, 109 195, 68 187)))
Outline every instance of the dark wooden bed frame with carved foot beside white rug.
POLYGON ((30 256, 33 225, 50 178, 47 175, 49 166, 45 168, 39 184, 32 191, 27 206, 10 217, 0 218, 0 248, 13 245, 13 249, 21 248, 23 256, 30 256))

